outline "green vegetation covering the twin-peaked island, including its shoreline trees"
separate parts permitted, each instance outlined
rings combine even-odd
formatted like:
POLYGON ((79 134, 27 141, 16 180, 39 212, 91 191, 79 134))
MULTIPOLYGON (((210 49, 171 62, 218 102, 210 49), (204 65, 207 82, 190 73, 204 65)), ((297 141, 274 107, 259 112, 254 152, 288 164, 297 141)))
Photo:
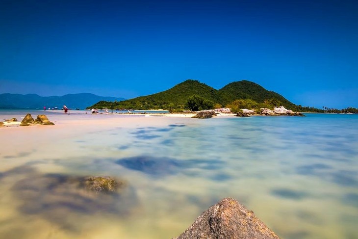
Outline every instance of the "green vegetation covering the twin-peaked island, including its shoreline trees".
POLYGON ((88 108, 109 109, 167 109, 169 111, 201 110, 230 107, 234 112, 240 108, 258 109, 284 106, 299 112, 324 112, 324 109, 297 106, 280 94, 262 86, 241 80, 231 82, 216 90, 198 80, 185 80, 166 91, 141 96, 126 101, 100 101, 88 108))

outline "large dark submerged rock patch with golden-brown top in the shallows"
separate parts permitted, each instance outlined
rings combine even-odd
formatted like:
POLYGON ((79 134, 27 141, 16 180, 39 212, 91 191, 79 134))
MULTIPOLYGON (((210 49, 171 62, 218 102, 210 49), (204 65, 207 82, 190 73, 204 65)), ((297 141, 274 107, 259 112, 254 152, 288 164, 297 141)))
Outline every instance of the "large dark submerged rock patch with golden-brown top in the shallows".
POLYGON ((67 219, 78 213, 126 217, 138 206, 134 188, 121 179, 41 174, 31 166, 20 166, 2 173, 0 183, 18 175, 22 179, 11 191, 19 200, 19 211, 43 216, 66 228, 72 227, 67 219))

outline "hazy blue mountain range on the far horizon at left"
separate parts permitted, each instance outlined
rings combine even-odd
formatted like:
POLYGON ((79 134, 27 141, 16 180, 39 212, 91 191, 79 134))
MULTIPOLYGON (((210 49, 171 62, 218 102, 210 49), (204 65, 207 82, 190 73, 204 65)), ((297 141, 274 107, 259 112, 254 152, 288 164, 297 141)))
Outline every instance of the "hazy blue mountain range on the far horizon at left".
POLYGON ((66 105, 68 108, 84 109, 99 101, 123 101, 125 98, 104 97, 90 93, 67 94, 64 96, 39 96, 37 94, 0 94, 0 108, 40 108, 44 106, 62 108, 66 105))

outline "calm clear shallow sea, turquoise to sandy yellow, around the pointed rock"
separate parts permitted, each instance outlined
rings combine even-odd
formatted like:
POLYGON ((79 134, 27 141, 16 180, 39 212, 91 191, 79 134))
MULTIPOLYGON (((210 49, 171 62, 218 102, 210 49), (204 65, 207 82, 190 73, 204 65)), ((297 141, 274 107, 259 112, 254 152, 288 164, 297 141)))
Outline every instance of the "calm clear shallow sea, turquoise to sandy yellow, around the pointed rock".
POLYGON ((156 118, 1 149, 0 238, 170 239, 224 197, 282 239, 358 238, 358 115, 156 118), (119 195, 71 183, 105 175, 119 195))

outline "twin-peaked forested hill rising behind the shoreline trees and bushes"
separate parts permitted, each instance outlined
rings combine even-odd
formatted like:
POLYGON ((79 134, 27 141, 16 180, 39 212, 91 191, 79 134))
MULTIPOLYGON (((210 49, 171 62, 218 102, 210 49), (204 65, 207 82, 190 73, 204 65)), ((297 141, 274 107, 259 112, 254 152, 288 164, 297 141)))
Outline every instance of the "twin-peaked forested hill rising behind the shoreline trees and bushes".
POLYGON ((285 99, 280 94, 268 91, 262 86, 248 80, 235 81, 217 90, 198 80, 185 80, 173 88, 153 95, 141 96, 122 102, 101 101, 93 106, 95 108, 183 108, 187 99, 198 95, 214 104, 226 106, 237 99, 251 99, 258 103, 266 100, 275 100, 287 108, 297 108, 295 104, 285 99))

